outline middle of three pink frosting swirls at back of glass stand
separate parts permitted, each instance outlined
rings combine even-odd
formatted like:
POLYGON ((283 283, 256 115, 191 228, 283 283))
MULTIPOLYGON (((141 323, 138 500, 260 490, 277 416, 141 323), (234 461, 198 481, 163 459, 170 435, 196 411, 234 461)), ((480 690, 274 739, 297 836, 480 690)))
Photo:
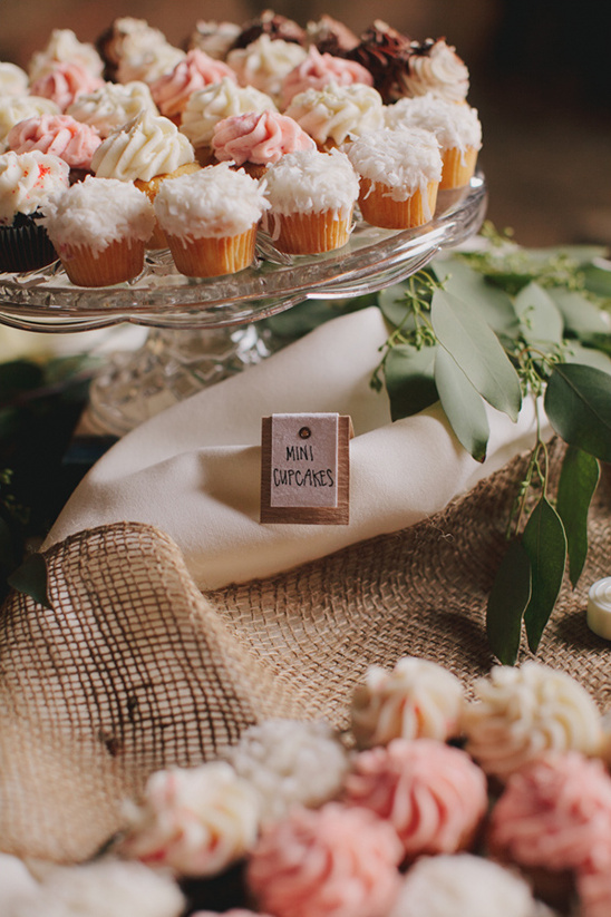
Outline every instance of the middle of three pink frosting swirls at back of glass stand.
POLYGON ((194 48, 169 74, 164 74, 151 84, 151 95, 162 115, 176 118, 193 92, 220 82, 223 77, 237 81, 231 67, 194 48))

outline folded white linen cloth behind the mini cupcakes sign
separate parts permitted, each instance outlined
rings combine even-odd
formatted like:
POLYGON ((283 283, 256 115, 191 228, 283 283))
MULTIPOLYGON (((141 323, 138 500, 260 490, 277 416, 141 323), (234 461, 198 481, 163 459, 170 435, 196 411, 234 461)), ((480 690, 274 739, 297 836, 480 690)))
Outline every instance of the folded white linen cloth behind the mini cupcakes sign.
POLYGON ((106 523, 149 523, 178 544, 201 589, 220 588, 414 525, 533 445, 532 399, 516 423, 488 410, 482 465, 439 404, 391 423, 386 392, 369 384, 387 333, 375 306, 334 319, 147 420, 90 469, 43 547, 106 523), (352 418, 350 524, 261 525, 261 418, 319 411, 352 418))

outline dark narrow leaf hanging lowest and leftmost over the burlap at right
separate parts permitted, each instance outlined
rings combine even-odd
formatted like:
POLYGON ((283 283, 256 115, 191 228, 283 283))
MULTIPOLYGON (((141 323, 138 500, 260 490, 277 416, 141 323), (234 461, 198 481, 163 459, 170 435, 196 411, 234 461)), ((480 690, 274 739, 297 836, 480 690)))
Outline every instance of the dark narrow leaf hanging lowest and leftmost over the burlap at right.
POLYGON ((510 542, 488 596, 486 634, 503 665, 513 665, 520 650, 522 618, 531 599, 531 562, 520 538, 510 542))

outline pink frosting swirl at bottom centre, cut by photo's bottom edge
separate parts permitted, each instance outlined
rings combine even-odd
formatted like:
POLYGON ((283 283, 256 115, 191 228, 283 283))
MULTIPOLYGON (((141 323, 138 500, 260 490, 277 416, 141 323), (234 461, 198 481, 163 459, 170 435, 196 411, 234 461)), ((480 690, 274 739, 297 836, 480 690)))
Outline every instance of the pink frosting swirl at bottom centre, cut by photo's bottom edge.
POLYGON ((274 917, 384 917, 400 886, 400 857, 392 828, 367 809, 295 807, 263 829, 246 881, 274 917))

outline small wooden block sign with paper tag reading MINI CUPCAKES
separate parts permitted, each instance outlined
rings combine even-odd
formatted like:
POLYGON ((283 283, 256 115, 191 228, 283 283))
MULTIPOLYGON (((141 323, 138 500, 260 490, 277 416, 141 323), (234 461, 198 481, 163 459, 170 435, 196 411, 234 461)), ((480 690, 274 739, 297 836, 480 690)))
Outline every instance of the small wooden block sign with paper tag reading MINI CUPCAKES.
POLYGON ((262 418, 261 521, 348 525, 353 435, 338 413, 262 418))

